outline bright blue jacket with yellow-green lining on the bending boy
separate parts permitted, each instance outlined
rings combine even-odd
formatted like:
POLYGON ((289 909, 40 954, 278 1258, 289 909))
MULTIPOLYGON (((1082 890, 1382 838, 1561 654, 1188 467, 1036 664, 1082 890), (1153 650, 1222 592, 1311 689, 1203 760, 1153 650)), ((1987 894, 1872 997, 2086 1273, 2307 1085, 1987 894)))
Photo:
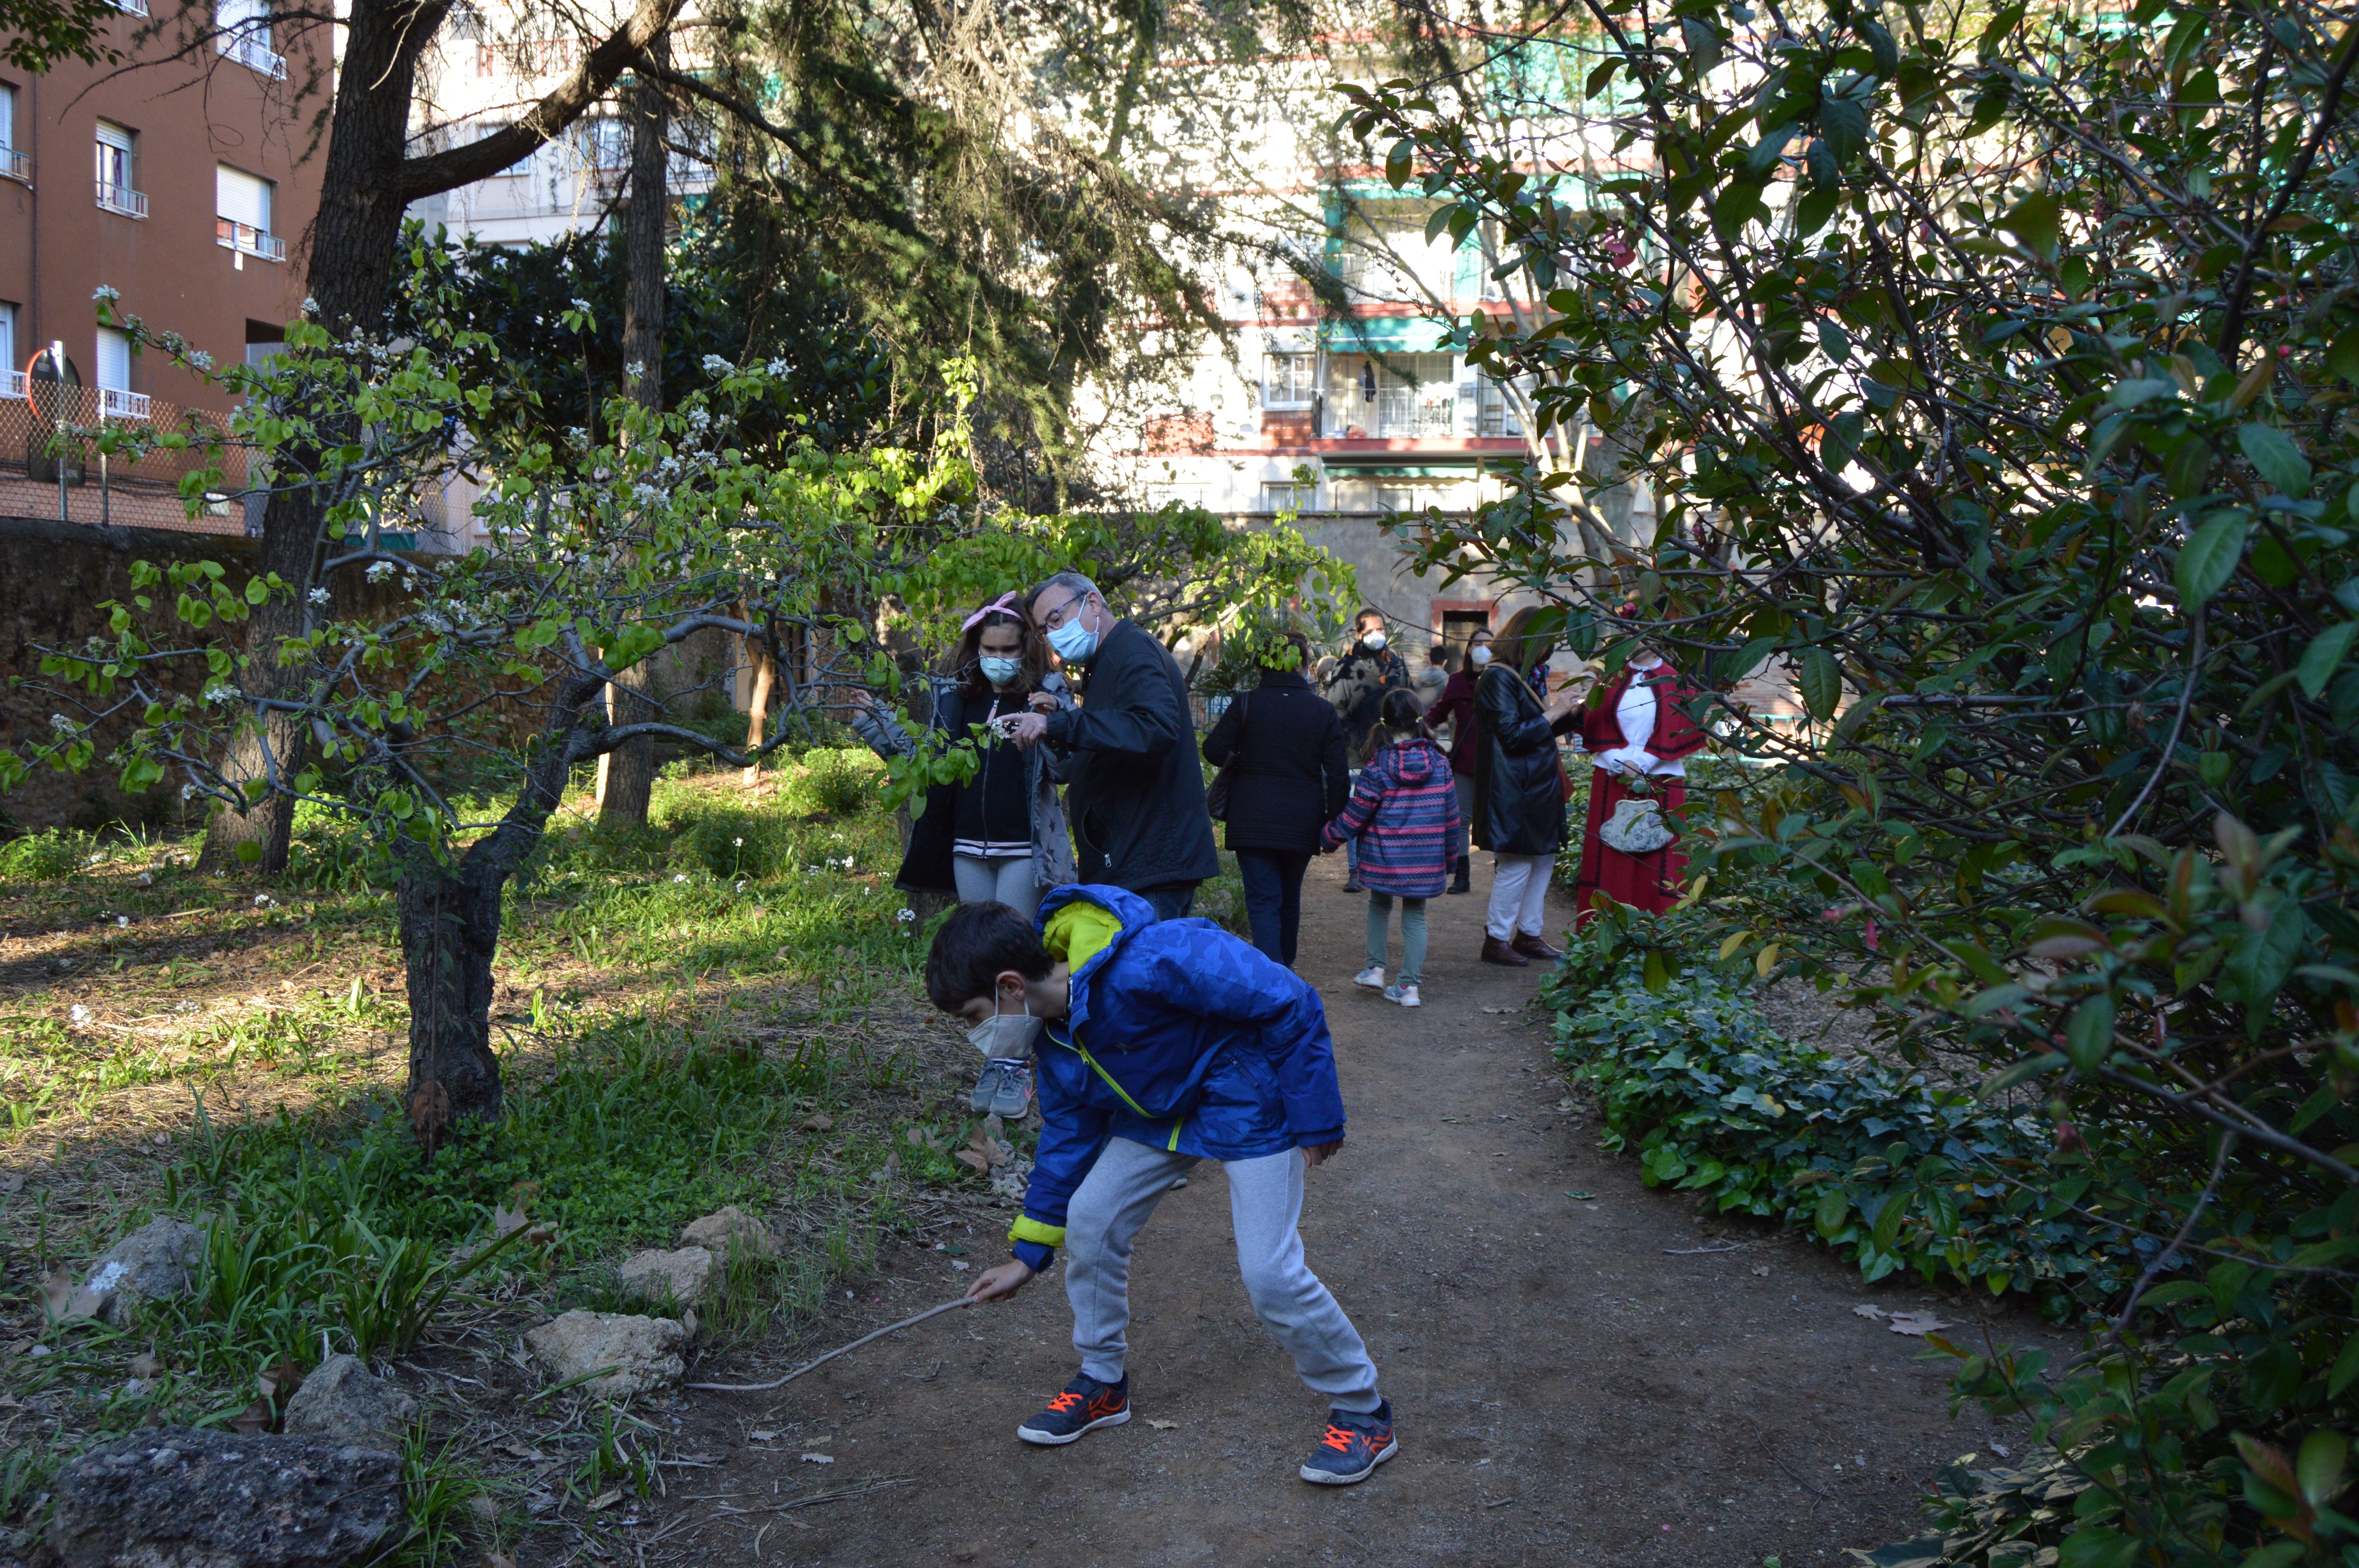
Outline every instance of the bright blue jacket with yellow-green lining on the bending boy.
POLYGON ((1040 1148, 1024 1217, 1007 1240, 1033 1269, 1064 1243, 1064 1210, 1106 1139, 1208 1160, 1333 1144, 1342 1085, 1326 1004, 1290 969, 1210 920, 1156 920, 1121 887, 1059 887, 1040 931, 1069 903, 1121 929, 1071 976, 1059 1023, 1040 1030, 1040 1148))

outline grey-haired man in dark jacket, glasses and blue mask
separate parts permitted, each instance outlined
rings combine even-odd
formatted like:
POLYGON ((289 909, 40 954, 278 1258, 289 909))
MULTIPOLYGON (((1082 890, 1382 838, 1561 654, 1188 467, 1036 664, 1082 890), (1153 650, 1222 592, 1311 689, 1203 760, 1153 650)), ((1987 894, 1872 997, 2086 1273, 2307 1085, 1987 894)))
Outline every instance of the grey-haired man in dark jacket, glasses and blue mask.
POLYGON ((1031 618, 1057 658, 1087 667, 1080 710, 1029 712, 1012 726, 1017 745, 1047 740, 1071 757, 1080 879, 1128 887, 1158 920, 1180 920, 1196 884, 1220 875, 1180 665, 1076 571, 1031 592, 1031 618))

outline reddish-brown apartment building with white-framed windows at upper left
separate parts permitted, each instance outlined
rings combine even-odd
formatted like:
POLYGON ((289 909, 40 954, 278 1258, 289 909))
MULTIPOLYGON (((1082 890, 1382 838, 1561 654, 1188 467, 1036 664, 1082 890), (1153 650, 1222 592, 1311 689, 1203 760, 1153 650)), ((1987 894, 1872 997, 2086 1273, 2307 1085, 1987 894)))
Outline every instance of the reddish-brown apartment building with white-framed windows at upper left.
MULTIPOLYGON (((172 330, 212 363, 274 351, 302 307, 302 236, 318 210, 318 160, 262 0, 217 0, 139 38, 146 0, 116 0, 116 66, 0 64, 0 512, 243 531, 219 495, 189 523, 182 462, 59 460, 59 422, 179 424, 226 415, 231 396, 160 354, 134 354, 94 297, 172 330), (59 370, 64 391, 59 391, 59 370), (64 479, 64 483, 59 483, 64 479)), ((309 38, 285 47, 307 50, 309 38)))

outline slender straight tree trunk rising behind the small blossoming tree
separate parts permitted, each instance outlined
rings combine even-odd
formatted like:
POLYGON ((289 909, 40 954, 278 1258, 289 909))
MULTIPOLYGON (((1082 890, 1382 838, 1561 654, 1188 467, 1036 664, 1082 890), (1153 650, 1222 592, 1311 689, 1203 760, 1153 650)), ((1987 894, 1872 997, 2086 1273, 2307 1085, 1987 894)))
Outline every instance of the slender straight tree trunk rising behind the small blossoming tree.
MULTIPOLYGON (((649 47, 656 68, 670 59, 663 40, 649 47)), ((630 205, 623 212, 623 375, 630 398, 663 413, 663 87, 639 75, 630 90, 630 205)), ((656 714, 656 660, 639 660, 616 677, 606 696, 613 724, 644 724, 656 714)), ((627 740, 599 757, 599 823, 646 825, 656 788, 656 743, 627 740)))

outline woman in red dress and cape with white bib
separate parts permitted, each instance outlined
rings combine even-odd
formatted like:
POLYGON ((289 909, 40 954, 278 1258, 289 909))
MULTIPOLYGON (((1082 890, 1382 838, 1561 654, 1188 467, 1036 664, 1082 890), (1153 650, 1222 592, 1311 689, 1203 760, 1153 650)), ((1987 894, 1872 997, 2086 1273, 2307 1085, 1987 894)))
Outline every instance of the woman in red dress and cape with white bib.
POLYGON ((1658 799, 1673 816, 1687 804, 1687 759, 1703 750, 1703 731, 1687 717, 1694 696, 1661 653, 1640 648, 1581 714, 1581 740, 1595 766, 1590 821, 1581 830, 1581 877, 1573 882, 1576 929, 1597 917, 1595 894, 1649 915, 1677 903, 1687 879, 1677 839, 1632 856, 1604 844, 1597 830, 1625 799, 1658 799))

